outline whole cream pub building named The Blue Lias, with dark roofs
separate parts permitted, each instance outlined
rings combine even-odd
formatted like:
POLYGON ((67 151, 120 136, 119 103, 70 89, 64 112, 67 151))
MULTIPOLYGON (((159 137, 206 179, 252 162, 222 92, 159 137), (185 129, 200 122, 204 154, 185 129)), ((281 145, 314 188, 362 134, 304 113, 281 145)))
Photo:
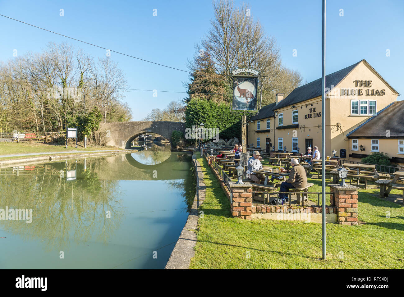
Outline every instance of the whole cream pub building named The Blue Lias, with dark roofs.
POLYGON ((321 78, 295 88, 286 98, 278 93, 248 120, 247 143, 269 151, 322 151, 326 156, 360 161, 385 152, 391 162, 404 164, 404 101, 366 61, 326 76, 326 126, 322 127, 321 78), (382 133, 384 132, 384 133, 382 133))

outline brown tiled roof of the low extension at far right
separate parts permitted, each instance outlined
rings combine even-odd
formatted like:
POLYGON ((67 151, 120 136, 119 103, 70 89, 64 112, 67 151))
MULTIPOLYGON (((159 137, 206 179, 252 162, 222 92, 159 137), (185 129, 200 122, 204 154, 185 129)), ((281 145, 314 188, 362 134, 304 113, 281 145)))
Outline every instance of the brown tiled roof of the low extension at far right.
POLYGON ((348 138, 404 139, 404 100, 394 101, 347 134, 348 138))

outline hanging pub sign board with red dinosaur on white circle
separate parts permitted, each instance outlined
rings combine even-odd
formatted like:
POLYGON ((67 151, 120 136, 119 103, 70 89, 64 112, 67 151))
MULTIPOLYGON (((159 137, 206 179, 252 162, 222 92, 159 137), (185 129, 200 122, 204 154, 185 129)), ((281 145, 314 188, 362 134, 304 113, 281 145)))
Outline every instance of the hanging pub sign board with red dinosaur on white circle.
POLYGON ((258 76, 233 76, 233 110, 256 111, 258 76))

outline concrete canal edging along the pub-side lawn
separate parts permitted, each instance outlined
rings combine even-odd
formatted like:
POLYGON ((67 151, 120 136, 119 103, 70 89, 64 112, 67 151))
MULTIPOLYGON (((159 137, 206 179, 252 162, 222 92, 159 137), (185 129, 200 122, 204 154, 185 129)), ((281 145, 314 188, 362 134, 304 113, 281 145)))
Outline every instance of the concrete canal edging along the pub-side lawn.
POLYGON ((179 236, 170 259, 165 269, 189 269, 191 258, 195 255, 194 246, 196 245, 196 228, 198 225, 198 208, 204 202, 206 196, 206 185, 203 183, 203 173, 201 165, 196 160, 197 155, 192 156, 192 162, 196 172, 196 194, 188 220, 179 236))

